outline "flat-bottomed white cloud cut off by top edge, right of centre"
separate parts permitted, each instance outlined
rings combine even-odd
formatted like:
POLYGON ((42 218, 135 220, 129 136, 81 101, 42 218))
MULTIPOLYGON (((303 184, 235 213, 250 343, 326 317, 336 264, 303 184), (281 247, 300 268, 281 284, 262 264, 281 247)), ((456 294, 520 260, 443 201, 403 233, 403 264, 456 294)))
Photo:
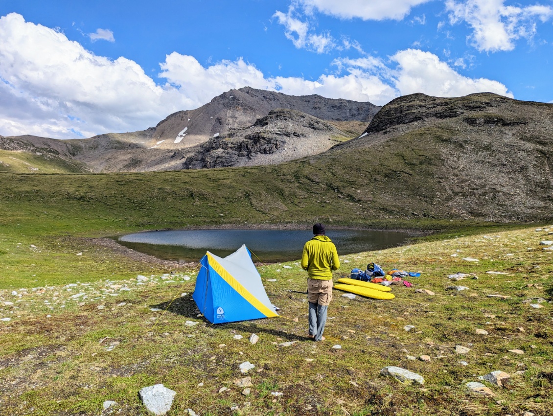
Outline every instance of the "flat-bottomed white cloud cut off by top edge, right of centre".
POLYGON ((401 20, 413 7, 432 0, 299 0, 309 11, 319 12, 342 19, 401 20))

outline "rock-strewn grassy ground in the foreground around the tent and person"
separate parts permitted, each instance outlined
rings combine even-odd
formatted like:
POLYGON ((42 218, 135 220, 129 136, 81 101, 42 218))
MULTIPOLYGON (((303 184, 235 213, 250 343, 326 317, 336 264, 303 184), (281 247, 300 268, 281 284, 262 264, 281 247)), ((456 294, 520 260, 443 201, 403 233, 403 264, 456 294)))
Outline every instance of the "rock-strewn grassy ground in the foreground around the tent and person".
MULTIPOLYGON (((259 268, 281 318, 210 325, 197 316, 190 297, 194 270, 150 268, 114 255, 102 263, 101 251, 78 246, 71 238, 36 247, 28 239, 18 246, 18 240, 4 238, 3 259, 12 252, 28 256, 29 262, 57 256, 61 270, 58 282, 43 285, 29 276, 18 282, 15 294, 0 290, 0 318, 11 318, 0 322, 2 411, 96 415, 104 401, 113 400, 113 410, 102 414, 145 416, 138 391, 163 383, 177 392, 168 416, 186 414, 187 408, 201 415, 479 416, 530 411, 545 416, 553 405, 552 306, 547 303, 553 294, 553 263, 539 241, 553 227, 534 228, 456 234, 342 256, 335 279, 370 261, 386 270, 422 274, 410 279, 412 288, 393 286, 396 298, 390 301, 348 300, 334 290, 327 340, 321 343, 305 338, 305 298, 288 292, 305 289, 305 272, 294 262, 259 268), (81 256, 76 256, 77 249, 81 256), (66 264, 79 274, 72 285, 66 284, 75 279, 66 264), (473 275, 460 281, 447 278, 457 272, 473 275), (137 274, 146 275, 147 282, 137 284, 137 274), (447 290, 450 285, 469 289, 447 290), (508 298, 488 297, 495 294, 508 298), (186 326, 186 321, 197 324, 186 326), (406 325, 414 328, 406 331, 406 325), (477 329, 487 334, 477 334, 477 329), (252 333, 260 338, 255 345, 248 342, 252 333), (236 335, 243 338, 234 339, 236 335), (293 344, 280 345, 284 342, 293 344), (456 353, 457 345, 469 352, 456 353), (418 358, 423 355, 430 362, 418 358), (248 375, 238 370, 245 361, 255 365, 248 375), (399 384, 379 374, 384 366, 416 372, 425 384, 399 384), (465 386, 495 370, 511 377, 504 387, 483 382, 493 397, 465 386), (233 382, 246 376, 252 382, 248 396, 233 382), (276 392, 283 394, 274 396, 276 392)), ((39 278, 40 268, 35 273, 39 278)))

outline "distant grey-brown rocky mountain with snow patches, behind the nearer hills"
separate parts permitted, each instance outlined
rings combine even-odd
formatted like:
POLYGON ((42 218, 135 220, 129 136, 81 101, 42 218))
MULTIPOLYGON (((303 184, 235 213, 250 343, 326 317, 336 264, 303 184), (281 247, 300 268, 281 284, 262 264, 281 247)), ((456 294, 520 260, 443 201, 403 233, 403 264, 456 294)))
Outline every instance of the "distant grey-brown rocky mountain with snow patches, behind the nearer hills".
MULTIPOLYGON (((360 123, 370 122, 380 109, 369 102, 319 95, 288 96, 243 87, 224 92, 195 110, 175 112, 155 127, 143 131, 105 133, 88 139, 64 141, 30 135, 15 136, 4 138, 4 145, 0 143, 0 148, 19 147, 20 151, 31 153, 55 153, 67 162, 74 160, 83 164, 85 171, 176 170, 182 168, 181 159, 193 155, 201 144, 213 137, 225 136, 231 129, 235 129, 236 134, 236 129, 252 126, 257 119, 277 108, 301 111, 311 117, 326 117, 334 124, 331 130, 338 128, 347 131, 335 133, 343 137, 355 136, 360 123), (12 143, 6 144, 7 141, 12 143)), ((326 150, 318 145, 315 148, 317 151, 326 150)), ((301 155, 307 153, 301 152, 301 155)), ((283 158, 279 160, 285 161, 283 158)))

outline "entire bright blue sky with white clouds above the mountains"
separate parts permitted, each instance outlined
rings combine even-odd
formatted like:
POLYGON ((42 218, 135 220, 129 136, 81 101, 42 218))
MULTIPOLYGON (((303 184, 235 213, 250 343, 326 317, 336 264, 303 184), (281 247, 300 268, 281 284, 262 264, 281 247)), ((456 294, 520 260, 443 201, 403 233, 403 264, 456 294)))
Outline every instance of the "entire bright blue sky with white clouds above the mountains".
POLYGON ((0 134, 155 126, 232 88, 553 101, 553 0, 0 0, 0 134))

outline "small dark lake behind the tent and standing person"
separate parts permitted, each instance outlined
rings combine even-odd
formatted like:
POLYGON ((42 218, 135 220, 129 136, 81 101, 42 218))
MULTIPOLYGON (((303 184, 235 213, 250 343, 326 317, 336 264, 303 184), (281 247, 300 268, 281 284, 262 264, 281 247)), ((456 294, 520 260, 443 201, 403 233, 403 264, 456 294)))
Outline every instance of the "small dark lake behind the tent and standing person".
MULTIPOLYGON (((369 230, 329 230, 327 236, 340 255, 394 247, 409 238, 405 232, 369 230)), ((151 256, 187 262, 199 261, 206 251, 225 257, 245 244, 255 254, 254 262, 285 262, 301 258, 312 237, 311 230, 166 230, 129 234, 118 242, 151 256)))

